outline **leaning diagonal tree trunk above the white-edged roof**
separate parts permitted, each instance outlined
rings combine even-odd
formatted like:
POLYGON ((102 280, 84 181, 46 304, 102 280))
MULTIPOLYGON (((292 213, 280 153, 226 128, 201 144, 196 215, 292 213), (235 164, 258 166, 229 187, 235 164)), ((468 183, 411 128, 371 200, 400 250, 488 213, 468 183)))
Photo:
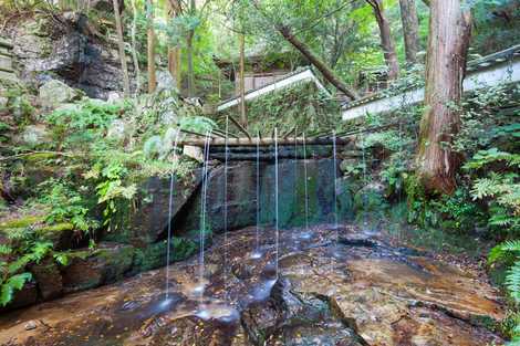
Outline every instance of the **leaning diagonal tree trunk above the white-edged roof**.
POLYGON ((339 91, 344 93, 346 96, 352 99, 356 99, 357 93, 346 86, 335 74, 332 72, 303 42, 298 40, 297 36, 292 34, 291 29, 283 25, 278 25, 277 30, 282 34, 282 36, 289 41, 300 53, 305 56, 311 64, 313 64, 323 75, 325 80, 334 85, 339 91))

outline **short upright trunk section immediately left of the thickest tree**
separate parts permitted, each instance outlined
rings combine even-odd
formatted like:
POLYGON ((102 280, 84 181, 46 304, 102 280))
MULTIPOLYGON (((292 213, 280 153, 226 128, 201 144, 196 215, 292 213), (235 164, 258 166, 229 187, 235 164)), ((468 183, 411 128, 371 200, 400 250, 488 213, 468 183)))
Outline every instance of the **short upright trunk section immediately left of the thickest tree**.
POLYGON ((419 20, 415 0, 399 0, 401 21, 403 22, 403 35, 405 39, 406 61, 410 64, 417 63, 417 52, 419 50, 419 20))

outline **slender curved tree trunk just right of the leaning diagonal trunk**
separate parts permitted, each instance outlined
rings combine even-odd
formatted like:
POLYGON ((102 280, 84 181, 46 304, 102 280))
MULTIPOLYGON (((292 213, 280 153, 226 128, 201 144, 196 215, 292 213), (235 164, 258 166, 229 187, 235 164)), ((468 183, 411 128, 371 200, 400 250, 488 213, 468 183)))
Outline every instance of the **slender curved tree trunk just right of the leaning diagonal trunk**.
POLYGON ((385 17, 385 9, 383 8, 382 0, 366 0, 372 7, 379 27, 381 48, 385 56, 386 66, 388 67, 388 80, 393 81, 399 76, 399 62, 395 52, 394 40, 392 39, 392 31, 388 21, 385 17))

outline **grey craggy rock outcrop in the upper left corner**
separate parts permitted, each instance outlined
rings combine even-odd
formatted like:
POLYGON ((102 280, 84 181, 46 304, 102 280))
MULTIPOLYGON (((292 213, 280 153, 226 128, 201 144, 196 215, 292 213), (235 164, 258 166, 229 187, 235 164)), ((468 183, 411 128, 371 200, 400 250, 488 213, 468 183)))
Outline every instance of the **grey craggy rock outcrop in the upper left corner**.
POLYGON ((111 92, 121 91, 116 46, 97 38, 82 14, 65 13, 61 20, 59 24, 25 18, 6 30, 21 78, 39 86, 58 76, 94 98, 106 99, 111 92))

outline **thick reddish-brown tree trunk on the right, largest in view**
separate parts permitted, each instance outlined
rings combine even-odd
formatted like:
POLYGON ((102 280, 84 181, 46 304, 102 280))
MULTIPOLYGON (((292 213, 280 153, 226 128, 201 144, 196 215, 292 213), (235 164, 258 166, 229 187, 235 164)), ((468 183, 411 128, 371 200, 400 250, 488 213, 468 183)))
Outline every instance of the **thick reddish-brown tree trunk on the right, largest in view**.
POLYGON ((417 176, 430 193, 453 193, 458 155, 450 144, 459 132, 456 106, 462 94, 462 80, 471 33, 469 10, 460 0, 433 0, 426 63, 426 111, 420 123, 417 176))

